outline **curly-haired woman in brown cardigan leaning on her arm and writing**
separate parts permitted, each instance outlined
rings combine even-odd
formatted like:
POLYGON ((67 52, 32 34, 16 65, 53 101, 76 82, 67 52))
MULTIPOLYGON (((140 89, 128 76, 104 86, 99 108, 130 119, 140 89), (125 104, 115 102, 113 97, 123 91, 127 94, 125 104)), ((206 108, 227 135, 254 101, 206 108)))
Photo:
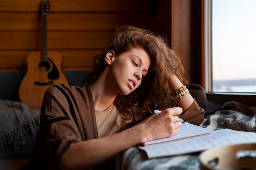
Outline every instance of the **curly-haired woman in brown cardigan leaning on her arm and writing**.
POLYGON ((179 117, 197 125, 204 119, 184 86, 180 59, 144 29, 117 28, 85 82, 47 90, 27 169, 107 169, 120 152, 175 135, 179 117))

